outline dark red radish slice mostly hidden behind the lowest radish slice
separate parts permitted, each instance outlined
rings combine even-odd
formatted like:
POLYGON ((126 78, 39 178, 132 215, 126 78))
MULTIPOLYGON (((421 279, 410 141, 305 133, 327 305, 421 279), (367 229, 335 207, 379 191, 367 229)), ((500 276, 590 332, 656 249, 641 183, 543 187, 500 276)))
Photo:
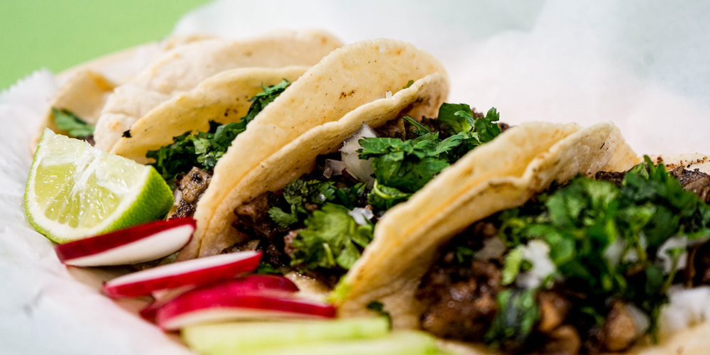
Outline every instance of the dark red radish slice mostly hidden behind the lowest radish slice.
MULTIPOLYGON (((247 293, 258 293, 263 290, 277 290, 286 293, 294 293, 298 291, 298 287, 293 281, 285 278, 283 276, 276 275, 246 275, 241 278, 235 278, 234 280, 227 280, 222 283, 202 286, 197 290, 202 290, 204 288, 212 289, 211 292, 224 293, 225 295, 236 295, 236 294, 247 294, 247 293)), ((189 290, 184 290, 180 288, 180 293, 170 295, 170 298, 156 299, 147 307, 141 310, 141 317, 145 320, 155 321, 155 314, 163 307, 163 305, 173 300, 173 298, 178 297, 180 294, 185 293, 189 290)), ((167 295, 166 295, 167 296, 167 295)))

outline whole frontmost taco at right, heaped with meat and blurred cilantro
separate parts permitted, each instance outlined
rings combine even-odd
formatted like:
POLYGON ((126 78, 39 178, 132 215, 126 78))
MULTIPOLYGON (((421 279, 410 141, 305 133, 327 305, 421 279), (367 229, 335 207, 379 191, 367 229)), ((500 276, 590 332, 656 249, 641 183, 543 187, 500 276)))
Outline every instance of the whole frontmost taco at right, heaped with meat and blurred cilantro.
POLYGON ((501 137, 469 156, 513 168, 457 193, 461 161, 393 208, 339 285, 340 314, 378 305, 465 354, 706 351, 707 158, 665 168, 622 144, 579 169, 582 132, 507 160, 501 137))

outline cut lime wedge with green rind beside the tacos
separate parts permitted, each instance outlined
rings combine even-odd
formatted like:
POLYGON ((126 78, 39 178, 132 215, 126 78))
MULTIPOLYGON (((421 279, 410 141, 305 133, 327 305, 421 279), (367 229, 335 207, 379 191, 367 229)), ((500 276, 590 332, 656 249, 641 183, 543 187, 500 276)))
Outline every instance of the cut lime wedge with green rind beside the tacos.
POLYGON ((162 219, 173 194, 151 166, 45 129, 25 186, 25 214, 66 243, 162 219))

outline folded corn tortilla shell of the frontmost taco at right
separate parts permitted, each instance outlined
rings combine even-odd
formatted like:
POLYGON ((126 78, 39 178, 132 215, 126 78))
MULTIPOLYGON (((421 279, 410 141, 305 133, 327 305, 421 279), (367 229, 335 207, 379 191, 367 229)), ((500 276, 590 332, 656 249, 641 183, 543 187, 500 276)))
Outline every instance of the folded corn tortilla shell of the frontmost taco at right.
POLYGON ((439 249, 459 231, 491 214, 518 207, 578 173, 624 170, 638 156, 611 123, 530 123, 508 129, 389 210, 374 239, 346 274, 334 300, 344 317, 365 315, 382 302, 396 328, 418 327, 415 291, 439 249))

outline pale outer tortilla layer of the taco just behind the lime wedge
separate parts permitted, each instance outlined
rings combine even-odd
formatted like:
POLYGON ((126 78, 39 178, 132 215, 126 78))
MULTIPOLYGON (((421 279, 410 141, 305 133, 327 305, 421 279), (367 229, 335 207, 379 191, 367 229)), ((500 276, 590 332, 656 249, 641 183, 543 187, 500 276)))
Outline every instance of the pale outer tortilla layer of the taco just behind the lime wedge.
POLYGON ((280 31, 251 40, 207 39, 180 45, 114 89, 97 121, 96 146, 110 151, 151 109, 219 72, 238 67, 314 65, 341 44, 322 31, 280 31))

